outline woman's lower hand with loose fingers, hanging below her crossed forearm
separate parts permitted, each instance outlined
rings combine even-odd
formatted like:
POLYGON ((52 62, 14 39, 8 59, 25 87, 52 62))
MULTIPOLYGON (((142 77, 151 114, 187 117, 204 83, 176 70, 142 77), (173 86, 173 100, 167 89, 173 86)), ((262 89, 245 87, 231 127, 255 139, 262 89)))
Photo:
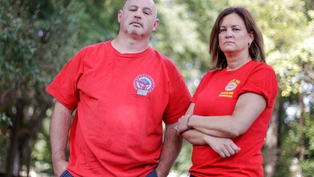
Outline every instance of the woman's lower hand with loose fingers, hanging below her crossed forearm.
POLYGON ((234 155, 241 150, 229 138, 218 138, 214 136, 206 136, 205 141, 222 158, 230 157, 231 155, 234 155))

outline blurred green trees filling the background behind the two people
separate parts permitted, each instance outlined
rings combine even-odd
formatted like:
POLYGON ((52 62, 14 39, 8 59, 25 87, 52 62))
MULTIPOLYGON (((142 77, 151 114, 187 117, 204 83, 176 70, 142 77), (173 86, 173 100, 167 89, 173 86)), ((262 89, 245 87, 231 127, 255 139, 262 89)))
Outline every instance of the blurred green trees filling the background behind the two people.
MULTIPOLYGON (((279 82, 263 146, 265 176, 314 176, 314 1, 155 2, 160 26, 150 45, 176 64, 191 94, 210 70, 208 37, 219 12, 251 11, 279 82)), ((49 124, 55 100, 45 88, 81 48, 117 36, 124 3, 0 0, 0 176, 54 176, 49 124)), ((185 141, 169 176, 187 176, 191 152, 185 141)))

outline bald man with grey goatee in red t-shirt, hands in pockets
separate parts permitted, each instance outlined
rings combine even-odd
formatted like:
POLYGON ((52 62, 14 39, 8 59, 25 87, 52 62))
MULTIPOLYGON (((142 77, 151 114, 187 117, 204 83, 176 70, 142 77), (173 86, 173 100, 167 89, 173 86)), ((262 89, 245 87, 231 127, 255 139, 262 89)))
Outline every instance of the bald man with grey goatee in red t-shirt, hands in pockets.
POLYGON ((169 173, 182 145, 174 126, 191 95, 175 65, 149 47, 156 15, 152 0, 127 1, 117 38, 82 49, 47 87, 57 100, 50 126, 56 176, 169 173))

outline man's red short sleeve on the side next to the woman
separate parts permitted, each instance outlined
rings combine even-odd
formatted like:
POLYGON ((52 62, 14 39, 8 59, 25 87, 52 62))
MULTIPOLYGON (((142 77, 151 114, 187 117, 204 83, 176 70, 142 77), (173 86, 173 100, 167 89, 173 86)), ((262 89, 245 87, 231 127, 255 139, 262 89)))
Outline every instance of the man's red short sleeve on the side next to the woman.
POLYGON ((178 121, 178 119, 187 112, 187 108, 190 106, 189 101, 191 99, 191 94, 179 71, 176 73, 177 79, 175 81, 174 91, 169 97, 169 102, 163 116, 165 124, 171 124, 178 121))

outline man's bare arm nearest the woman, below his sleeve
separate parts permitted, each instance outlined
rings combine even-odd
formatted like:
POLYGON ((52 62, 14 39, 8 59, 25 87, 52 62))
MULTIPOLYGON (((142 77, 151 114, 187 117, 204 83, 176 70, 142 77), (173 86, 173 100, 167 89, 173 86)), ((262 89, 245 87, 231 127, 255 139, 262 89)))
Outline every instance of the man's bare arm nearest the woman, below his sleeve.
POLYGON ((156 167, 158 177, 166 177, 171 169, 172 164, 176 160, 181 147, 182 138, 177 136, 174 127, 177 123, 166 124, 164 143, 162 146, 159 164, 156 167))

